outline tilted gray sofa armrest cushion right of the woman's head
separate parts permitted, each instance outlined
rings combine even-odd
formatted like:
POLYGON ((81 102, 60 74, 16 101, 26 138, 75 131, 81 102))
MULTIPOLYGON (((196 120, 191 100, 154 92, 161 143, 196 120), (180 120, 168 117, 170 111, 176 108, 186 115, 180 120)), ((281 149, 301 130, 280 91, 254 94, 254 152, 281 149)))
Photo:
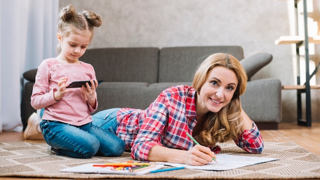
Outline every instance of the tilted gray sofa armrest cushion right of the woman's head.
POLYGON ((258 52, 250 54, 249 56, 240 60, 243 69, 247 73, 248 80, 254 76, 259 70, 261 70, 265 65, 270 63, 272 60, 272 55, 269 53, 258 52))

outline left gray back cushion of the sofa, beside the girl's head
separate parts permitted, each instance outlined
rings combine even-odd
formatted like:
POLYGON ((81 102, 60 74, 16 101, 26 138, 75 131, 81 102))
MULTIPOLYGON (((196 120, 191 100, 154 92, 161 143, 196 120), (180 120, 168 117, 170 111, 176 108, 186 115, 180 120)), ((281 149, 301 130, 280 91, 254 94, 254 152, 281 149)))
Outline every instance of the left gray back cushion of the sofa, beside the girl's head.
POLYGON ((80 58, 105 82, 157 82, 158 48, 88 49, 80 58))

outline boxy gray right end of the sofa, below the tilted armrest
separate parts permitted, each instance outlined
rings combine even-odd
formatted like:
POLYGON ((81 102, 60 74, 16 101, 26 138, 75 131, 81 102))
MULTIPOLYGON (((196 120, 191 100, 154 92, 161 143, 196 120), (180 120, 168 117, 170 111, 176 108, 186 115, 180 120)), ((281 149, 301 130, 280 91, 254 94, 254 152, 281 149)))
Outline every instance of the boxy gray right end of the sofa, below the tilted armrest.
POLYGON ((253 121, 276 123, 281 121, 281 81, 279 79, 249 81, 240 99, 243 110, 253 121))

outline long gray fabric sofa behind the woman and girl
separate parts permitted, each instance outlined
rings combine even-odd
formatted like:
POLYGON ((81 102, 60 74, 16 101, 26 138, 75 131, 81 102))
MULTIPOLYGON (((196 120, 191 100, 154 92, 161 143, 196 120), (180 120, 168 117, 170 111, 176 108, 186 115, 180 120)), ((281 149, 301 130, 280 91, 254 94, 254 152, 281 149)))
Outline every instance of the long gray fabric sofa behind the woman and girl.
MULTIPOLYGON (((279 79, 250 78, 272 60, 268 53, 243 57, 239 46, 101 48, 89 49, 81 60, 92 64, 97 79, 98 110, 112 107, 147 108, 167 87, 191 85, 197 65, 213 53, 229 53, 240 60, 248 75, 247 89, 241 96, 243 109, 260 129, 278 129, 281 121, 281 82, 279 79)), ((24 73, 21 119, 24 127, 35 111, 30 105, 36 69, 24 73)), ((96 111, 96 112, 97 112, 96 111)))

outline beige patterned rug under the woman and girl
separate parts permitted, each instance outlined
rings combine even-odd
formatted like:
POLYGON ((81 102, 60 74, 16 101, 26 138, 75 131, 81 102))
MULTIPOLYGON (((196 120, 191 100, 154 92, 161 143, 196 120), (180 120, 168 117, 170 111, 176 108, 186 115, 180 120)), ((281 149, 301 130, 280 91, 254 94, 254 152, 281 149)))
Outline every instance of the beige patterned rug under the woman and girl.
POLYGON ((117 163, 131 160, 129 153, 121 157, 74 159, 47 152, 47 144, 0 143, 0 177, 45 177, 78 179, 314 179, 320 178, 320 156, 293 143, 265 142, 262 154, 247 154, 234 143, 220 144, 221 153, 254 155, 280 160, 226 171, 181 169, 145 175, 63 173, 60 169, 87 163, 117 163))

